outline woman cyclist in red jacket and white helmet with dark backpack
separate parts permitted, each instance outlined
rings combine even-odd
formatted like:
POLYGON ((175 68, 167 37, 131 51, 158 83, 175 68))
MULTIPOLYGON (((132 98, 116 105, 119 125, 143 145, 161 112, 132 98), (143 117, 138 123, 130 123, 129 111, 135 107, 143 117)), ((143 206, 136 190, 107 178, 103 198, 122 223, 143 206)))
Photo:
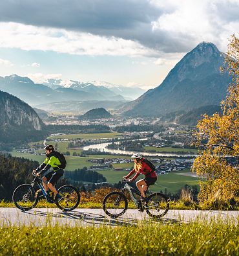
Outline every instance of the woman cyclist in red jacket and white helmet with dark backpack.
POLYGON ((132 179, 129 179, 129 181, 136 180, 136 178, 140 174, 145 175, 144 179, 138 180, 136 182, 136 186, 138 187, 138 190, 141 193, 141 201, 146 202, 147 198, 145 197, 145 191, 147 191, 149 185, 153 185, 156 182, 157 175, 155 171, 152 170, 152 168, 149 167, 147 163, 145 163, 145 159, 143 158, 143 156, 141 156, 141 154, 133 154, 131 158, 134 158, 134 169, 131 170, 131 172, 127 176, 124 176, 123 178, 128 179, 130 176, 132 176, 132 174, 134 174, 134 172, 136 172, 136 174, 132 179))

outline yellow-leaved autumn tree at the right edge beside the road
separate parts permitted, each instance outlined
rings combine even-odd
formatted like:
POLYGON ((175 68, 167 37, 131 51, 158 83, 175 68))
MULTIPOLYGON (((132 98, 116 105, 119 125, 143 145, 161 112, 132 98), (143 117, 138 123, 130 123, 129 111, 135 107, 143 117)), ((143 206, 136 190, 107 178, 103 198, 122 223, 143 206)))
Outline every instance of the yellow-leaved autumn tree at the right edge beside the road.
POLYGON ((239 203, 239 38, 231 36, 223 72, 229 72, 233 82, 221 102, 223 113, 203 115, 197 124, 197 145, 202 155, 192 165, 192 171, 205 176, 200 181, 200 202, 208 205, 238 205, 239 203))

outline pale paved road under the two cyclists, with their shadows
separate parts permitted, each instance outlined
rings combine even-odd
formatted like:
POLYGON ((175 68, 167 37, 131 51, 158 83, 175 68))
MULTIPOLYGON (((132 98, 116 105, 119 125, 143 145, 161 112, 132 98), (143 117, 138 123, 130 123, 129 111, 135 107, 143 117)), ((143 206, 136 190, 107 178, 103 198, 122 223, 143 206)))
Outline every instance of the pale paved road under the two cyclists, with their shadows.
MULTIPOLYGON (((30 211, 20 211, 17 208, 0 208, 0 224, 2 225, 31 225, 44 226, 59 224, 67 226, 100 226, 111 225, 137 225, 141 220, 152 222, 152 219, 144 212, 128 209, 127 212, 113 219, 105 215, 103 209, 75 209, 70 213, 64 213, 57 208, 36 208, 30 211)), ((169 210, 167 215, 161 218, 161 223, 191 223, 196 220, 233 220, 236 224, 239 221, 239 211, 196 211, 196 210, 169 210)))

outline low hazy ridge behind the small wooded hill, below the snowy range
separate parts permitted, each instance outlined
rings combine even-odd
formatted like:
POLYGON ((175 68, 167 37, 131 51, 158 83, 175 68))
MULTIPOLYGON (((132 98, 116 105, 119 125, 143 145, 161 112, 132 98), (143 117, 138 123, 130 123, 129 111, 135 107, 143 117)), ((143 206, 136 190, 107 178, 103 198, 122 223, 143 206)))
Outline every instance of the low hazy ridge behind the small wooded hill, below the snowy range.
POLYGON ((107 110, 115 110, 119 106, 123 105, 125 100, 67 100, 61 102, 51 102, 48 104, 37 105, 37 108, 48 112, 72 112, 72 113, 85 113, 92 108, 105 108, 107 110))

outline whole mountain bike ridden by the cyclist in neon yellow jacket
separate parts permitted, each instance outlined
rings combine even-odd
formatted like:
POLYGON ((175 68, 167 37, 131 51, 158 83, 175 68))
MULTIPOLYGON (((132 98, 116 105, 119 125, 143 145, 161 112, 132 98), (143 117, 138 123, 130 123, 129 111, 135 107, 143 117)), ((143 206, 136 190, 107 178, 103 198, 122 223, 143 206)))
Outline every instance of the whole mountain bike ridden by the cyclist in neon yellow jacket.
MULTIPOLYGON (((41 178, 38 178, 36 174, 32 174, 35 178, 31 184, 22 184, 19 185, 14 193, 12 194, 12 200, 18 209, 22 211, 28 211, 34 207, 36 207, 40 198, 46 198, 47 192, 45 191, 41 182, 47 183, 41 178), (36 192, 34 186, 38 185, 39 190, 36 192), (39 194, 39 191, 42 194, 39 194)), ((58 193, 62 196, 60 200, 54 201, 54 193, 52 192, 52 196, 50 199, 55 202, 57 207, 63 211, 72 211, 76 209, 79 205, 80 194, 76 187, 72 185, 63 185, 59 189, 57 189, 58 193)))

